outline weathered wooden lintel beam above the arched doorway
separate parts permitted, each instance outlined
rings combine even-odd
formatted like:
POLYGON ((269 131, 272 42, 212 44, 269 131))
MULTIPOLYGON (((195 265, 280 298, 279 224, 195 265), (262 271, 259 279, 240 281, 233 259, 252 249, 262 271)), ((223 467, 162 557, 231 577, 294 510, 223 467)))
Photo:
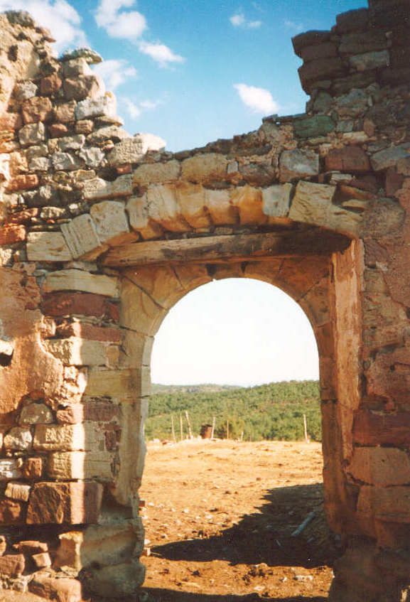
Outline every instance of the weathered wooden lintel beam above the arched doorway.
POLYGON ((349 242, 345 236, 323 230, 152 240, 110 249, 103 264, 109 267, 186 262, 217 264, 271 257, 329 255, 347 248, 349 242))

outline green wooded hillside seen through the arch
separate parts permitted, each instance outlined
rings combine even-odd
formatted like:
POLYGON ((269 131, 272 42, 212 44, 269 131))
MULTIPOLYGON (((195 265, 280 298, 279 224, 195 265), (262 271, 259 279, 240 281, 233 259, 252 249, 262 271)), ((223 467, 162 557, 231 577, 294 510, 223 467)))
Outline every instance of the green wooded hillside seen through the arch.
POLYGON ((303 414, 308 421, 308 434, 321 441, 320 394, 317 381, 273 382, 258 387, 230 385, 153 385, 147 439, 171 439, 171 416, 177 439, 180 438, 180 416, 187 434, 185 410, 188 411, 193 434, 203 424, 212 424, 215 435, 245 441, 303 439, 303 414))

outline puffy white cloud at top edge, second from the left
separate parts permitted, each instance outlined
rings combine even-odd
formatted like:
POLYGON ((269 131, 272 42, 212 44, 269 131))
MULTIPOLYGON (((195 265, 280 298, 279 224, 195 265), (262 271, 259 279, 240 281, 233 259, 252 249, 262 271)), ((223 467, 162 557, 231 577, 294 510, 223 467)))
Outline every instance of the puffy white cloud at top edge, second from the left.
POLYGON ((135 41, 146 30, 146 18, 139 11, 122 10, 134 4, 134 0, 100 0, 95 21, 112 38, 135 41))

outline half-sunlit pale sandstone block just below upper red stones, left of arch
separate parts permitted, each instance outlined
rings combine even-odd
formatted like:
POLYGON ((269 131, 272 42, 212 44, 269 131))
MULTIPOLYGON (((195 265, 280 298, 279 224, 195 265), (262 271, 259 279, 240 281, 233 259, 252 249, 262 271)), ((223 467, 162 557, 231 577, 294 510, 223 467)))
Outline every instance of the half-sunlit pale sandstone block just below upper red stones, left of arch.
POLYGON ((43 345, 67 366, 107 365, 107 345, 97 340, 61 338, 46 340, 43 345))

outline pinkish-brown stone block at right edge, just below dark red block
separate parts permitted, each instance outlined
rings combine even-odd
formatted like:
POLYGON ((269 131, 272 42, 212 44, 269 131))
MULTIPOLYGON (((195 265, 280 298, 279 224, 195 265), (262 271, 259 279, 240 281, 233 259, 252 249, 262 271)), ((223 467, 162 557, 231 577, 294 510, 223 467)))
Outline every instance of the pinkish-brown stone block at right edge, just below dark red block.
POLYGON ((347 469, 353 478, 379 487, 410 483, 410 458, 405 451, 386 447, 356 447, 347 469))

